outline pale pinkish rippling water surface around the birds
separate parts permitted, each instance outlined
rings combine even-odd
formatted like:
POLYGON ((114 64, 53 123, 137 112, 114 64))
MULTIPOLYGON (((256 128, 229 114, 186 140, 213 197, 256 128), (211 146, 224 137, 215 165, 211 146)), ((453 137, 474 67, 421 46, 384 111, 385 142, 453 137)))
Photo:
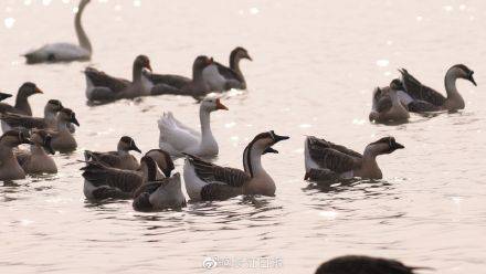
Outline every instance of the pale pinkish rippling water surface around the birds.
MULTIPOLYGON (((81 123, 80 148, 56 155, 60 172, 0 188, 1 273, 200 273, 205 257, 276 260, 277 268, 214 273, 311 273, 330 257, 369 254, 436 273, 480 273, 486 249, 486 3, 445 1, 93 1, 84 17, 91 63, 23 64, 45 42, 75 41, 75 1, 2 0, 0 89, 33 81, 35 115, 59 98, 81 123), (243 45, 249 92, 212 115, 215 162, 241 167, 257 133, 292 136, 263 164, 276 197, 189 203, 179 212, 138 213, 130 202, 85 201, 83 149, 110 150, 130 135, 158 146, 157 119, 172 110, 197 127, 191 98, 152 97, 89 107, 81 71, 88 64, 130 77, 139 53, 156 72, 190 75, 194 56, 226 63, 243 45), (406 67, 443 88, 465 63, 477 87, 459 82, 466 109, 400 126, 368 122, 371 91, 406 67), (303 180, 303 143, 317 135, 357 150, 393 135, 406 149, 379 158, 384 178, 326 188, 303 180)), ((182 161, 177 161, 181 171, 182 161)), ((234 261, 232 261, 234 262, 234 261)))

